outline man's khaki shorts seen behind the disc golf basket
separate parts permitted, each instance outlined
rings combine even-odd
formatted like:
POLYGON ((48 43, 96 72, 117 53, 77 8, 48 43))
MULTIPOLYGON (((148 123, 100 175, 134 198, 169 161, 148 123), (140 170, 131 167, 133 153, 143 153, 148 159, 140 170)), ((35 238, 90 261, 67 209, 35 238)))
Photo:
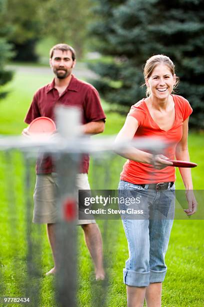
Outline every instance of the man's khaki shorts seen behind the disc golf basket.
MULTIPOLYGON (((34 188, 33 223, 52 224, 59 221, 57 211, 57 174, 41 174, 36 176, 34 188)), ((76 175, 76 192, 90 190, 87 174, 76 175)), ((95 220, 77 220, 77 225, 92 224, 95 220)))

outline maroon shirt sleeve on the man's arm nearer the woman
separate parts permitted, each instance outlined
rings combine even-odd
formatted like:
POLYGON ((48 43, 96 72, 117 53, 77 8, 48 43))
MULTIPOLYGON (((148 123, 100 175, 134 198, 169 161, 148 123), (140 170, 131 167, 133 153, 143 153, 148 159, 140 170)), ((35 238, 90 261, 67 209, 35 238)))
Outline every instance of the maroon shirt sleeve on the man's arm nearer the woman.
POLYGON ((98 121, 101 119, 105 121, 105 114, 100 104, 100 97, 94 87, 90 87, 87 90, 83 108, 86 122, 98 121))

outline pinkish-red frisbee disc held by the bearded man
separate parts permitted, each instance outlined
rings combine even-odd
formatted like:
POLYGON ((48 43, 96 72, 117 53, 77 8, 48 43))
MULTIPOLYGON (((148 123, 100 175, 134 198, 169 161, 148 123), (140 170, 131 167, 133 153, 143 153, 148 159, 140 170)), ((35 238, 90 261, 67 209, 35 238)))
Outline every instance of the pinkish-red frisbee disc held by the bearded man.
POLYGON ((56 126, 53 120, 45 116, 33 119, 28 126, 29 133, 52 133, 55 130, 56 126))

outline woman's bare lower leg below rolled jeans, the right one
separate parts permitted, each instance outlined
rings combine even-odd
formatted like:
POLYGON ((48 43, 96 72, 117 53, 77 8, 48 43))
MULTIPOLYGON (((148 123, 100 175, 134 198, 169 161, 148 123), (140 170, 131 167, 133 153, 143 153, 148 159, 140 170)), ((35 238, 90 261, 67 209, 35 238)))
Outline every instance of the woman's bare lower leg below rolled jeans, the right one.
POLYGON ((149 283, 145 293, 145 300, 147 307, 161 306, 161 290, 162 290, 162 282, 149 283))

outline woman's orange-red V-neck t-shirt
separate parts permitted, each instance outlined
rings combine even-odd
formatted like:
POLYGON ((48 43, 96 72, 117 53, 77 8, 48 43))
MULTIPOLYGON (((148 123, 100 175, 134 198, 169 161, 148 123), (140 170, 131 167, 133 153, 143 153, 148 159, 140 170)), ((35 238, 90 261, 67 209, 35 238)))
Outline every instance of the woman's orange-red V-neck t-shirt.
MULTIPOLYGON (((192 108, 185 98, 178 95, 172 95, 172 97, 175 105, 175 119, 172 127, 167 131, 160 129, 152 119, 144 99, 131 106, 127 114, 127 116, 133 116, 138 121, 134 138, 152 136, 165 139, 170 145, 160 154, 171 160, 175 157, 176 144, 182 137, 183 121, 192 113, 192 108)), ((120 179, 133 184, 170 182, 175 181, 175 168, 166 167, 162 170, 156 170, 152 168, 152 165, 127 160, 120 174, 120 179)))

